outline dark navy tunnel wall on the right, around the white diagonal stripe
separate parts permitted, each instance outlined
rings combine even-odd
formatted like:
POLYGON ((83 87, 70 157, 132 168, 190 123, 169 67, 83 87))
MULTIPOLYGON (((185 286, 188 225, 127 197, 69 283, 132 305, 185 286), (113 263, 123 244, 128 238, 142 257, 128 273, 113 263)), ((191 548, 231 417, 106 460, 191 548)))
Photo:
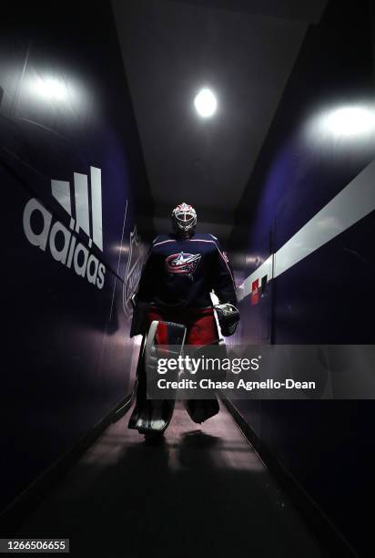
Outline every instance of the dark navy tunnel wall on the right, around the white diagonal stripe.
MULTIPOLYGON (((344 130, 332 136, 325 128, 334 109, 373 103, 370 15, 366 2, 355 6, 330 2, 319 25, 309 28, 239 204, 231 238, 239 283, 251 274, 255 279, 269 255, 277 253, 350 181, 358 180, 374 158, 373 133, 350 136, 344 130)), ((365 185, 374 184, 374 179, 371 167, 365 185)), ((362 202, 359 189, 353 208, 362 202)), ((250 294, 240 303, 235 342, 373 344, 372 209, 373 205, 367 216, 273 280, 269 266, 267 286, 260 288, 259 276, 258 285, 251 284, 250 294)), ((320 222, 319 226, 336 224, 320 222)), ((334 372, 340 375, 344 368, 334 372)), ((361 511, 366 504, 371 506, 374 496, 373 402, 237 400, 233 404, 275 460, 360 555, 366 555, 370 517, 361 511)))

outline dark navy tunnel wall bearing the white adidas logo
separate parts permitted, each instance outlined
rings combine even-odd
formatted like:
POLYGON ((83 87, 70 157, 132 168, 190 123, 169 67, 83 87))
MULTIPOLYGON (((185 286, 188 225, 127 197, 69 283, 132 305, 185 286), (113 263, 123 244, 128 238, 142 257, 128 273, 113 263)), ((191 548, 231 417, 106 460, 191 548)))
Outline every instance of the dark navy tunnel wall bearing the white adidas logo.
POLYGON ((1 511, 132 391, 152 202, 109 3, 0 28, 1 511))

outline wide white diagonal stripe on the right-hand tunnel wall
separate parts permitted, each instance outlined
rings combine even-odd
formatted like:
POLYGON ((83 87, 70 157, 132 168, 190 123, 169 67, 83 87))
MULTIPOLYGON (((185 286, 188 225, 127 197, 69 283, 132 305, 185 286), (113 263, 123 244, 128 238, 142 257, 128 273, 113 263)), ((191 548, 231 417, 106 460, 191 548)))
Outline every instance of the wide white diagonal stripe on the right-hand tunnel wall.
POLYGON ((375 160, 281 246, 278 252, 270 255, 258 269, 248 275, 238 287, 238 300, 251 294, 257 279, 259 285, 265 275, 268 281, 275 279, 374 210, 375 160))

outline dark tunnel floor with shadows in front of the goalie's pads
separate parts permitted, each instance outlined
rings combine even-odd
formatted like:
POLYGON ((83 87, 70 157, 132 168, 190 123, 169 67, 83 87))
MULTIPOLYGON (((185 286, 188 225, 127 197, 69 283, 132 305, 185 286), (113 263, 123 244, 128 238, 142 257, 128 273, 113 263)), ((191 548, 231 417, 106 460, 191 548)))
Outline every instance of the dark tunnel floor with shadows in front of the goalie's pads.
POLYGON ((69 538, 79 557, 321 556, 227 411, 192 424, 177 409, 149 444, 122 419, 16 536, 69 538))

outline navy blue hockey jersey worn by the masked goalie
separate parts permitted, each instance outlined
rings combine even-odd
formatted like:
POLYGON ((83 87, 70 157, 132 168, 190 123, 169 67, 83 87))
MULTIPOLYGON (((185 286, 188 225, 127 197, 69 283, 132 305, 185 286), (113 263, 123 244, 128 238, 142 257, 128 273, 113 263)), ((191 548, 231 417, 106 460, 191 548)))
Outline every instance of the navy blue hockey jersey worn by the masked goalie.
POLYGON ((152 243, 139 282, 137 300, 161 306, 212 306, 214 291, 220 303, 236 305, 228 258, 212 234, 180 239, 162 234, 152 243))

